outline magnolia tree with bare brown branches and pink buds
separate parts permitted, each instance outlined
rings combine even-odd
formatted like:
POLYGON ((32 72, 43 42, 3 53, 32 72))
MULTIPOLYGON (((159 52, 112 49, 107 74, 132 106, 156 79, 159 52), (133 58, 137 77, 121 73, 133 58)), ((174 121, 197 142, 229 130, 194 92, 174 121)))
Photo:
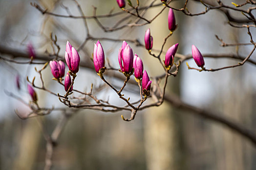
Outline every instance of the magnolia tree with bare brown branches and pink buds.
MULTIPOLYGON (((182 8, 174 8, 171 5, 172 0, 152 0, 147 6, 141 6, 140 0, 131 1, 131 0, 117 0, 117 4, 121 12, 117 13, 109 13, 106 15, 97 16, 96 15, 96 8, 94 7, 93 16, 85 16, 84 12, 80 6, 80 4, 74 0, 77 4, 78 10, 81 16, 73 16, 69 15, 61 15, 57 13, 52 13, 47 9, 43 9, 37 3, 31 3, 33 7, 35 7, 39 12, 43 15, 50 15, 55 17, 67 17, 67 18, 83 18, 85 29, 86 29, 86 38, 83 44, 80 47, 72 46, 72 44, 68 41, 66 42, 66 48, 61 49, 57 43, 57 36, 53 36, 51 34, 52 40, 52 47, 53 53, 47 53, 47 56, 35 54, 35 50, 33 48, 33 44, 29 44, 27 46, 29 56, 31 57, 27 62, 20 62, 16 61, 15 59, 8 59, 6 57, 2 57, 1 59, 6 60, 8 62, 14 62, 19 64, 43 64, 42 68, 36 68, 36 72, 38 76, 35 76, 33 79, 27 77, 27 91, 28 94, 31 96, 31 101, 24 101, 18 95, 14 93, 6 92, 11 97, 14 97, 27 106, 31 108, 31 112, 26 116, 21 116, 19 110, 16 111, 17 115, 21 119, 28 119, 37 116, 44 116, 50 114, 52 111, 58 109, 63 111, 64 119, 61 121, 53 131, 52 135, 45 135, 45 139, 47 141, 47 152, 45 158, 45 170, 50 169, 52 166, 51 157, 52 157, 52 149, 55 147, 58 137, 60 136, 61 131, 63 130, 67 119, 72 116, 71 113, 66 112, 70 108, 74 109, 93 109, 98 110, 101 112, 118 112, 118 111, 129 111, 130 117, 125 118, 121 115, 124 121, 131 121, 135 119, 136 114, 138 114, 141 110, 160 106, 163 102, 169 102, 174 107, 179 107, 184 110, 189 110, 195 114, 201 115, 206 119, 212 119, 217 121, 221 124, 226 125, 227 127, 234 130, 236 133, 240 134, 241 136, 249 139, 254 145, 256 145, 256 135, 252 133, 250 130, 247 130, 243 126, 223 117, 213 114, 211 111, 203 110, 197 108, 195 106, 189 105, 185 102, 182 102, 177 96, 170 96, 166 95, 166 86, 169 78, 175 77, 179 73, 179 68, 181 63, 186 62, 188 59, 193 58, 194 62, 198 66, 198 68, 192 68, 188 65, 188 69, 194 69, 199 72, 202 71, 218 71, 228 68, 235 68, 235 67, 242 67, 245 63, 250 62, 256 65, 256 62, 250 60, 250 57, 253 55, 256 49, 256 43, 254 42, 254 36, 251 34, 251 29, 255 29, 256 27, 256 18, 253 12, 256 10, 256 1, 254 0, 246 0, 243 4, 225 4, 224 1, 216 0, 216 3, 211 3, 207 0, 200 0, 200 2, 205 6, 205 10, 200 13, 191 13, 187 8, 187 4, 190 0, 185 0, 184 5, 182 8), (155 6, 162 6, 161 11, 157 14, 154 14, 154 17, 151 19, 145 17, 145 13, 155 6), (245 8, 246 6, 246 8, 245 8), (163 43, 161 49, 154 49, 154 38, 153 35, 150 34, 150 23, 152 23, 155 18, 159 17, 164 10, 169 10, 168 18, 166 18, 166 22, 168 22, 168 28, 170 33, 163 37, 163 43), (171 37, 172 34, 175 34, 175 31, 179 29, 179 26, 176 25, 175 14, 182 13, 187 16, 200 16, 208 13, 211 10, 218 10, 220 13, 223 13, 229 19, 228 24, 230 27, 242 29, 247 29, 247 34, 250 37, 250 42, 247 43, 236 43, 236 44, 228 44, 225 43, 221 38, 216 36, 216 38, 221 42, 222 47, 228 46, 245 46, 251 45, 253 48, 248 53, 246 57, 241 57, 238 55, 226 54, 226 55, 204 55, 200 52, 200 48, 198 49, 196 46, 192 45, 191 53, 192 55, 182 55, 176 54, 179 46, 179 42, 173 44, 168 51, 164 51, 164 47, 166 46, 166 42, 168 38, 171 37), (243 19, 237 19, 236 17, 232 17, 230 15, 230 11, 238 11, 241 12, 241 16, 244 17, 243 19), (129 16, 135 16, 132 19, 132 22, 128 21, 128 17, 123 17, 124 24, 120 25, 120 23, 114 25, 113 27, 106 27, 104 26, 98 18, 106 18, 111 19, 114 16, 122 15, 123 13, 127 13, 129 16), (138 40, 126 40, 126 39, 111 39, 111 38, 102 38, 102 40, 109 40, 109 41, 116 41, 120 42, 119 51, 118 51, 118 62, 120 68, 113 68, 111 67, 111 61, 106 63, 106 54, 104 52, 105 47, 102 46, 100 43, 101 38, 96 39, 93 35, 89 34, 89 25, 87 25, 86 19, 92 17, 95 19, 96 23, 101 27, 105 32, 114 32, 121 30, 123 28, 131 28, 131 27, 141 27, 144 25, 148 26, 148 29, 145 30, 144 40, 145 43, 140 43, 138 40), (140 22, 139 22, 140 21, 140 22), (94 40, 94 49, 90 49, 93 51, 92 55, 92 62, 95 68, 95 75, 99 76, 98 81, 104 82, 106 86, 99 86, 94 89, 93 85, 91 85, 91 89, 88 92, 81 91, 80 89, 73 88, 73 85, 76 84, 76 77, 79 77, 81 67, 87 67, 87 65, 82 64, 80 62, 80 50, 88 42, 88 40, 94 40), (121 44, 122 43, 122 44, 121 44), (148 74, 147 70, 144 69, 143 60, 136 54, 136 51, 132 50, 132 45, 140 46, 145 49, 145 51, 149 52, 149 56, 155 58, 156 62, 162 66, 159 69, 162 69, 162 74, 152 77, 148 74), (59 53, 64 53, 64 57, 60 56, 59 53), (211 57, 211 58, 230 58, 232 60, 240 60, 239 63, 235 65, 225 66, 222 68, 207 68, 205 67, 204 57, 211 57), (35 60, 43 60, 46 62, 35 62, 35 60), (65 62, 65 63, 64 63, 65 62), (67 69, 65 68, 67 66, 67 69), (61 84, 66 91, 64 94, 60 94, 58 91, 51 91, 49 87, 44 85, 43 79, 43 71, 45 69, 50 68, 53 80, 56 81, 56 84, 61 84), (114 74, 113 72, 117 72, 114 74), (114 82, 110 82, 108 80, 108 75, 114 74, 116 79, 124 80, 123 85, 120 88, 117 88, 114 82), (35 83, 35 78, 39 78, 41 80, 41 84, 35 83), (134 81, 135 80, 135 81, 134 81), (124 95, 124 91, 126 90, 126 85, 128 84, 136 84, 137 88, 139 89, 139 93, 137 94, 136 99, 130 99, 124 95), (116 103, 111 103, 107 100, 100 99, 96 97, 94 91, 105 91, 107 88, 111 88, 113 92, 119 97, 120 100, 126 102, 125 105, 117 105, 116 103), (40 96, 37 94, 38 90, 43 90, 47 93, 54 95, 55 99, 58 100, 63 104, 64 107, 62 108, 44 108, 38 104, 38 98, 40 96), (149 100, 151 98, 151 100, 149 100), (148 101, 148 102, 146 102, 148 101)), ((197 0, 196 0, 197 1, 197 0)), ((199 0, 198 0, 199 1, 199 0)), ((103 7, 101 7, 103 8, 103 7)), ((68 12, 68 9, 66 9, 68 12)), ((106 49, 105 49, 106 50, 106 49)), ((5 51, 2 53, 9 53, 15 57, 21 56, 20 53, 12 53, 9 51, 5 51)), ((207 63, 206 63, 207 65, 207 63)), ((16 84, 17 87, 20 89, 20 76, 16 77, 16 84)), ((88 80, 89 81, 89 80, 88 80)))

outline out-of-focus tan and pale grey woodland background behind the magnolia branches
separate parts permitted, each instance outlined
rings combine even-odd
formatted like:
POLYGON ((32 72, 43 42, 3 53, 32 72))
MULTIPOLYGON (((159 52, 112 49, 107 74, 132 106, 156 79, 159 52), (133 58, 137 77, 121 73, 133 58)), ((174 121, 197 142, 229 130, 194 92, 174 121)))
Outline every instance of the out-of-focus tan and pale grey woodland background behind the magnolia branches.
MULTIPOLYGON (((214 1, 214 0, 212 0, 214 1)), ((245 0, 233 0, 237 4, 245 0)), ((46 50, 52 52, 50 33, 56 34, 64 56, 66 41, 78 48, 86 37, 83 19, 53 17, 42 15, 30 5, 31 0, 0 0, 0 46, 26 51, 31 43, 37 54, 46 50)), ((65 7, 74 16, 80 16, 76 3, 72 0, 36 0, 43 8, 56 14, 68 15, 65 7)), ((116 0, 79 0, 85 16, 93 15, 93 6, 97 15, 119 12, 116 0)), ((134 4, 136 1, 132 1, 134 4)), ((151 2, 151 1, 150 1, 151 2)), ((140 0, 141 6, 150 3, 140 0)), ((171 6, 182 8, 185 0, 173 0, 171 6)), ((231 4, 231 0, 224 3, 231 4)), ((156 0, 155 4, 160 3, 156 0)), ((127 5, 128 6, 128 5, 127 5)), ((192 13, 205 10, 200 2, 190 1, 187 6, 192 13)), ((147 18, 154 17, 163 7, 158 6, 146 13, 147 18)), ((227 43, 249 43, 247 29, 235 29, 227 24, 226 16, 217 10, 205 15, 189 17, 175 11, 178 29, 169 38, 164 51, 174 43, 179 43, 178 53, 191 54, 194 44, 204 53, 225 53, 247 56, 253 46, 220 47, 215 34, 227 43)), ((231 12, 237 18, 241 13, 231 12)), ((126 14, 100 18, 101 23, 112 27, 126 14)), ((150 28, 153 36, 153 49, 160 50, 164 38, 169 34, 168 9, 151 24, 142 27, 125 28, 115 32, 104 32, 94 19, 87 19, 90 34, 94 37, 138 39, 144 44, 145 31, 150 28)), ((131 17, 132 18, 132 17, 131 17)), ((255 29, 251 29, 253 35, 255 29)), ((254 36, 255 37, 255 36, 254 36)), ((117 54, 122 42, 100 40, 105 56, 114 68, 119 68, 117 54)), ((94 43, 89 40, 80 50, 81 60, 93 65, 89 60, 94 43)), ((144 62, 149 76, 163 73, 162 66, 149 55, 143 47, 128 43, 134 53, 144 62)), ((11 57, 1 54, 4 57, 11 57)), ((164 59, 164 55, 161 56, 164 59)), ((36 57, 35 57, 36 58, 36 57)), ((256 54, 251 56, 256 61, 256 54)), ((17 58, 29 61, 29 58, 17 58)), ((192 59, 191 67, 196 67, 192 59)), ((233 65, 237 60, 205 58, 206 68, 219 68, 233 65)), ((30 110, 21 102, 11 98, 4 90, 11 91, 23 100, 29 101, 26 92, 26 76, 36 77, 35 84, 40 85, 39 75, 34 67, 42 65, 21 65, 0 60, 0 170, 41 170, 45 164, 46 142, 42 125, 51 134, 61 113, 52 112, 44 117, 27 120, 20 119, 14 112, 26 115, 30 110), (21 75, 21 91, 15 84, 17 74, 21 75)), ((67 67, 66 67, 67 71, 67 67)), ((186 63, 181 65, 177 77, 170 77, 167 94, 175 93, 189 104, 219 113, 221 116, 237 122, 256 133, 256 67, 246 63, 242 67, 224 69, 216 72, 198 72, 188 70, 186 63)), ((50 68, 43 72, 45 86, 52 91, 64 94, 61 85, 52 80, 50 68)), ((115 81, 108 77, 116 85, 115 81)), ((80 68, 74 88, 89 91, 90 85, 102 85, 94 70, 80 68)), ((58 98, 42 90, 36 90, 39 105, 45 107, 65 107, 58 98)), ((138 97, 138 91, 128 85, 125 94, 138 97)), ((115 104, 124 104, 110 88, 97 94, 98 98, 108 99, 115 104)), ((138 112, 131 122, 121 119, 121 114, 129 117, 128 112, 104 113, 93 110, 70 110, 74 115, 68 120, 53 153, 53 170, 255 170, 255 146, 221 124, 198 117, 190 112, 175 109, 164 102, 160 107, 153 107, 138 112)))

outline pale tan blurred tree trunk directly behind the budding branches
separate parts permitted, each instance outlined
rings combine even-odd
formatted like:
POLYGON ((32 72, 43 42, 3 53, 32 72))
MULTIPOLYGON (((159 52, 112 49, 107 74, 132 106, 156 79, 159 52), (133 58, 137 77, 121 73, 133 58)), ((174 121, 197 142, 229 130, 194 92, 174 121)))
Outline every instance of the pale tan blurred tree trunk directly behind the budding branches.
MULTIPOLYGON (((173 2, 171 5, 180 6, 183 1, 173 2)), ((154 10, 150 17, 157 14, 159 10, 154 10)), ((153 26, 150 25, 150 31, 153 36, 153 48, 161 49, 163 39, 169 34, 168 30, 168 11, 165 10, 163 17, 156 20, 153 26), (167 30, 167 31, 163 31, 167 30)), ((182 15, 175 13, 176 21, 182 24, 182 15)), ((169 38, 164 50, 167 51, 173 44, 180 43, 181 29, 177 29, 169 38)), ((179 45, 178 51, 182 51, 179 45)), ((149 55, 149 54, 147 54, 149 55)), ((164 60, 165 53, 162 54, 161 60, 164 60)), ((155 62, 154 60, 152 60, 155 62)), ((151 63, 153 66, 153 63, 151 63)), ((150 71, 157 74, 162 74, 161 66, 154 67, 150 71), (154 70, 152 70, 154 69, 154 70)), ((177 77, 169 77, 167 91, 172 91, 179 95, 180 93, 180 73, 177 77)), ((179 118, 174 113, 176 112, 170 105, 164 103, 160 107, 150 108, 145 113, 145 150, 146 150, 146 164, 148 170, 178 170, 181 169, 179 164, 179 118)))

